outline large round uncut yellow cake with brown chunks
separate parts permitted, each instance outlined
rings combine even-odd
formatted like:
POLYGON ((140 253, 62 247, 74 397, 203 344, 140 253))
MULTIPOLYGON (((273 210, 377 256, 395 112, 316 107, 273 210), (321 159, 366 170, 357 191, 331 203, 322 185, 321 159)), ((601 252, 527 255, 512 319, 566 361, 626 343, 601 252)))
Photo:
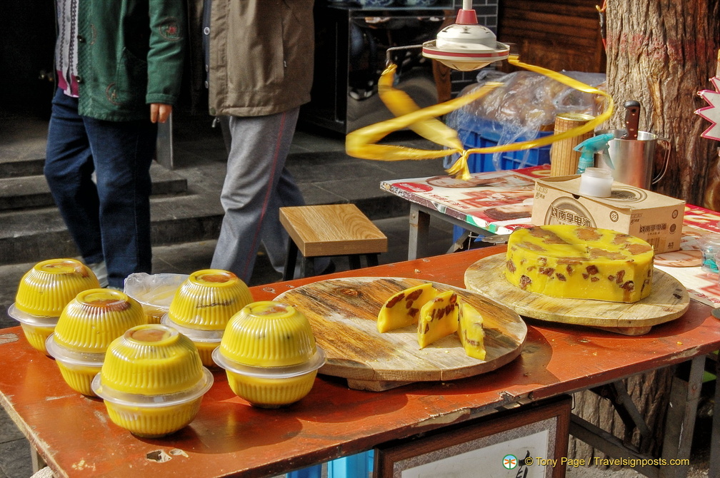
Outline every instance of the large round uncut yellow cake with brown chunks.
POLYGON ((505 277, 528 292, 632 303, 652 287, 652 246, 609 229, 557 224, 510 234, 505 277))

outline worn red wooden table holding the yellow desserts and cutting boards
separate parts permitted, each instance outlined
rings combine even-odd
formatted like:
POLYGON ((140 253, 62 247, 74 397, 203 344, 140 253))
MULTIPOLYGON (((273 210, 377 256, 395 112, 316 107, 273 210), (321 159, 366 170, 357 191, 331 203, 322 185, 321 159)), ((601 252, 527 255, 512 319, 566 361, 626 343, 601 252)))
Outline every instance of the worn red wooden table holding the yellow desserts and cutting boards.
MULTIPOLYGON (((469 265, 503 251, 474 249, 327 277, 420 277, 464 287, 469 265)), ((312 280, 318 279, 258 286, 251 292, 255 300, 269 300, 312 280)), ((708 306, 691 302, 683 317, 643 336, 531 322, 520 357, 495 372, 463 380, 364 392, 349 390, 343 380, 318 376, 310 395, 279 410, 251 407, 233 395, 224 372, 216 372, 215 385, 189 426, 172 436, 148 439, 114 426, 101 400, 73 392, 53 360, 32 349, 17 327, 0 331, 0 404, 58 477, 260 477, 372 449, 504 405, 583 390, 681 362, 690 361, 694 367, 719 348, 718 319, 708 306), (163 453, 171 459, 148 459, 163 453)), ((685 407, 681 431, 689 428, 691 435, 695 409, 692 400, 686 401, 690 406, 685 407)), ((683 436, 678 443, 683 443, 683 436)), ((676 445, 682 457, 685 451, 676 445)))

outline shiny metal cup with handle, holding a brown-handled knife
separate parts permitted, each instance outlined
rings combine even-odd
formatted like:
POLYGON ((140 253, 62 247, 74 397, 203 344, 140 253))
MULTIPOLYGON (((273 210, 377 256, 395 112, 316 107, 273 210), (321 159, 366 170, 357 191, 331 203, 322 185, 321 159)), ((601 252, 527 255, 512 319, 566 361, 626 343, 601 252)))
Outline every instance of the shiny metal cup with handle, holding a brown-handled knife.
POLYGON ((601 155, 595 155, 595 166, 611 169, 614 180, 637 188, 649 189, 650 185, 658 183, 665 176, 667 162, 670 160, 670 142, 667 139, 645 131, 637 132, 637 139, 622 139, 626 133, 624 129, 595 132, 595 134, 604 133, 613 133, 615 136, 615 139, 608 142, 608 155, 615 169, 611 169, 601 155), (657 142, 665 143, 665 161, 660 173, 653 177, 652 166, 657 142))

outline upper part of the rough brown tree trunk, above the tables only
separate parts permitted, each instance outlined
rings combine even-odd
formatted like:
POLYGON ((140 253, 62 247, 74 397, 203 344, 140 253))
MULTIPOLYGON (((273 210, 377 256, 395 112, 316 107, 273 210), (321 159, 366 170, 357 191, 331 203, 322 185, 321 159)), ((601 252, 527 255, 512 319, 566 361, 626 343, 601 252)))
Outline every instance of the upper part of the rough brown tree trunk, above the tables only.
POLYGON ((608 0, 606 10, 608 93, 616 103, 611 127, 623 127, 625 101, 639 101, 640 129, 672 145, 654 190, 699 206, 718 144, 700 136, 710 124, 695 111, 707 106, 697 93, 712 88, 715 75, 719 3, 608 0))

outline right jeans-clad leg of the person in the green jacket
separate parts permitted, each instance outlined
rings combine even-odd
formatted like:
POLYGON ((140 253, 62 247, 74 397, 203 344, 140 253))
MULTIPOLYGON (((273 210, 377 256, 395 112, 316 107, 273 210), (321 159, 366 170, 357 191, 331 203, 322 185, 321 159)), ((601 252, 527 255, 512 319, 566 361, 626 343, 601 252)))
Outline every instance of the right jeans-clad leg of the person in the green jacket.
POLYGON ((95 162, 99 224, 109 286, 152 270, 150 164, 157 127, 150 121, 84 118, 95 162))

